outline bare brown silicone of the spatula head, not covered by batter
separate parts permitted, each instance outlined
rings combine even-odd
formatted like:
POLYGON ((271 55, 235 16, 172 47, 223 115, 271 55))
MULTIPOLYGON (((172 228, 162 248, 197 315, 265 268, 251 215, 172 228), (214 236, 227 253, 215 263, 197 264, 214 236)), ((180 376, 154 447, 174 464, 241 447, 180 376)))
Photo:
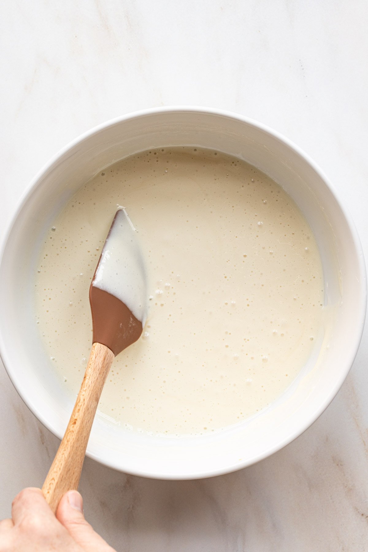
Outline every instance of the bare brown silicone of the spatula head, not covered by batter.
MULTIPOLYGON (((119 211, 115 214, 106 241, 109 238, 119 211)), ((124 302, 115 297, 115 295, 108 293, 108 291, 93 285, 102 254, 89 288, 93 343, 102 343, 113 351, 116 357, 117 354, 140 338, 143 327, 142 322, 136 319, 124 302)))

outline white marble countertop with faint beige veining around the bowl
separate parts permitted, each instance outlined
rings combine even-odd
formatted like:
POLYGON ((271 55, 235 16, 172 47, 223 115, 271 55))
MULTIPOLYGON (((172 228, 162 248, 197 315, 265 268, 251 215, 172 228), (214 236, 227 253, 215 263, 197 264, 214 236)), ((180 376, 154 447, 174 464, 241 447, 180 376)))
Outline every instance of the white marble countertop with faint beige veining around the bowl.
MULTIPOLYGON (((34 0, 2 6, 0 232, 34 173, 94 125, 146 107, 242 113, 295 141, 345 200, 368 258, 365 0, 34 0)), ((368 550, 368 335, 326 412, 272 457, 198 481, 87 459, 86 516, 119 552, 368 550)), ((58 440, 0 367, 0 518, 58 440)))

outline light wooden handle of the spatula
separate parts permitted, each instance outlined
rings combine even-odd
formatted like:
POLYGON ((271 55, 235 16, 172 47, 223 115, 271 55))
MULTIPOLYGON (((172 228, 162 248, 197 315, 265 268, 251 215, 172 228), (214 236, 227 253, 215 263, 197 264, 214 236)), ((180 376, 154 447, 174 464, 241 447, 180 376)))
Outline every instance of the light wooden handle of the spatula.
POLYGON ((78 489, 90 429, 113 360, 108 347, 93 343, 68 427, 42 487, 54 513, 63 494, 78 489))

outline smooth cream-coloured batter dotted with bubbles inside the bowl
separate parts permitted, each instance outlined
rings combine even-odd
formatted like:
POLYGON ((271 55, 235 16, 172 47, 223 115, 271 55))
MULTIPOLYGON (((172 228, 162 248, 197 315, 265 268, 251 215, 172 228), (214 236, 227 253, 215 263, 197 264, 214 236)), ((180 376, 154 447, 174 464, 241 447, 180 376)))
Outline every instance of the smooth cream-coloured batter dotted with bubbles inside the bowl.
POLYGON ((105 169, 45 236, 36 322, 61 383, 76 394, 83 377, 88 289, 117 205, 138 230, 149 308, 142 337, 114 360, 100 411, 129 429, 182 435, 237 423, 279 397, 322 325, 316 241, 265 174, 194 147, 105 169))

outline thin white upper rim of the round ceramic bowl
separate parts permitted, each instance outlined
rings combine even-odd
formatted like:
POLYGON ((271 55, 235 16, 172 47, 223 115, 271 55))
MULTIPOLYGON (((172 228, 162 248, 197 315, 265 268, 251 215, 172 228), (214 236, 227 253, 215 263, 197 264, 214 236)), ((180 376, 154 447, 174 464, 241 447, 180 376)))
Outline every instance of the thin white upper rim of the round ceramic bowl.
MULTIPOLYGON (((286 146, 288 146, 291 150, 294 150, 294 152, 297 153, 298 156, 302 158, 303 161, 305 161, 312 169, 317 173, 319 178, 322 179, 323 183, 326 185, 326 187, 329 189, 330 193, 332 193, 335 201, 337 202, 340 210, 342 211, 342 214, 344 216, 344 219, 346 221, 346 224, 348 225, 348 229, 351 235, 351 238, 353 239, 354 243, 354 253, 358 260, 358 266, 359 266, 359 275, 360 275, 360 282, 359 282, 359 311, 357 312, 357 327, 360 328, 359 331, 356 332, 355 339, 350 341, 349 343, 349 360, 346 362, 346 366, 344 370, 340 373, 339 378, 335 381, 332 388, 329 390, 329 393, 326 395, 326 399, 322 402, 322 404, 319 405, 316 410, 309 413, 308 417, 305 419, 304 423, 301 424, 298 429, 289 435, 285 436, 282 440, 280 440, 276 445, 273 447, 270 447, 266 450, 264 450, 263 453, 255 455, 251 459, 243 460, 240 462, 237 462, 234 465, 226 465, 222 468, 207 470, 207 471, 200 471, 196 474, 188 474, 188 475, 179 475, 179 474, 168 474, 164 475, 162 473, 148 470, 127 470, 123 466, 118 465, 113 460, 109 460, 108 457, 102 459, 97 454, 94 454, 92 452, 89 452, 87 449, 86 456, 89 458, 92 458, 93 460, 98 461, 100 464, 103 464, 105 466, 108 466, 109 468, 113 468, 118 471, 125 471, 125 473, 130 473, 132 475, 138 475, 142 477, 151 477, 153 479, 168 479, 168 480, 184 480, 184 479, 201 479, 202 477, 212 477, 216 475, 222 475, 226 473, 230 473, 232 471, 237 471, 242 468, 246 468, 246 466, 255 464, 259 462, 260 460, 263 460, 267 457, 269 457, 271 454, 274 454, 281 448, 285 447, 287 444, 291 443, 294 439, 299 437, 303 432, 306 431, 308 427, 310 427, 319 416, 326 410, 326 408, 329 406, 330 402, 334 399, 335 395, 341 388, 342 384, 344 383, 346 376, 348 375, 351 366, 354 363, 356 353, 358 352, 359 344, 362 337, 362 332, 364 329, 364 322, 366 317, 366 306, 367 306, 367 283, 366 283, 366 266, 365 266, 365 260, 364 260, 364 253, 362 251, 362 246, 360 242, 360 238, 358 235, 358 231, 356 230, 354 221, 349 213, 348 208, 346 208, 344 201, 340 199, 339 192, 335 189, 334 185, 329 181, 326 174, 322 171, 322 169, 318 166, 317 163, 315 163, 312 158, 302 150, 299 146, 297 146, 293 141, 289 140, 286 136, 282 135, 280 132, 271 129, 268 125, 265 125, 263 123, 259 123, 259 121, 254 120, 252 118, 249 118, 245 115, 238 114, 236 112, 231 112, 225 109, 215 109, 215 108, 207 108, 207 107, 201 107, 198 105, 170 105, 167 107, 154 107, 154 108, 147 108, 142 110, 137 110, 135 112, 127 113, 125 115, 117 116, 113 119, 109 119, 105 121, 104 123, 101 123, 99 125, 94 126, 93 128, 87 130, 86 132, 83 132, 81 135, 77 136, 74 140, 71 140, 68 142, 68 144, 64 147, 62 147, 60 150, 58 150, 49 160, 40 168, 40 170, 35 174, 35 176, 31 179, 29 184, 26 186, 23 194, 21 195, 20 199, 18 200, 17 205, 15 206, 13 215, 10 216, 10 219, 8 219, 6 224, 6 230, 4 232, 1 245, 0 245, 0 266, 3 262, 3 256, 4 252, 6 250, 6 245, 10 236, 10 233, 13 230, 13 227, 15 225, 15 222, 18 219, 18 216, 20 214, 20 211, 22 210, 24 204, 28 200, 29 196, 34 192, 34 190, 37 188, 38 183, 43 176, 44 173, 46 173, 63 155, 65 155, 68 151, 70 151, 73 147, 75 147, 77 144, 82 142, 83 140, 88 139, 90 136, 97 134, 98 132, 105 130, 109 126, 114 126, 116 124, 124 123, 124 121, 128 121, 131 119, 141 118, 143 116, 147 115, 156 115, 159 113, 199 113, 199 114, 210 114, 210 115, 217 115, 222 116, 230 119, 235 119, 240 121, 241 123, 246 123, 248 125, 254 126, 255 128, 262 130, 266 132, 266 134, 271 135, 276 140, 279 140, 283 142, 286 146)), ((0 327, 0 358, 2 359, 2 362, 4 364, 4 368, 7 371, 7 374, 9 376, 10 381, 12 381, 12 384, 14 388, 17 390, 18 395, 23 400, 24 404, 28 406, 29 410, 38 418, 38 420, 47 428, 49 431, 54 434, 59 439, 62 438, 62 434, 57 432, 54 427, 51 426, 49 421, 42 415, 42 413, 38 410, 36 405, 32 404, 31 401, 28 399, 26 393, 23 392, 21 389, 21 386, 18 385, 17 379, 14 377, 12 373, 12 367, 11 362, 8 358, 7 354, 7 347, 6 343, 3 339, 3 333, 1 331, 0 327)))

